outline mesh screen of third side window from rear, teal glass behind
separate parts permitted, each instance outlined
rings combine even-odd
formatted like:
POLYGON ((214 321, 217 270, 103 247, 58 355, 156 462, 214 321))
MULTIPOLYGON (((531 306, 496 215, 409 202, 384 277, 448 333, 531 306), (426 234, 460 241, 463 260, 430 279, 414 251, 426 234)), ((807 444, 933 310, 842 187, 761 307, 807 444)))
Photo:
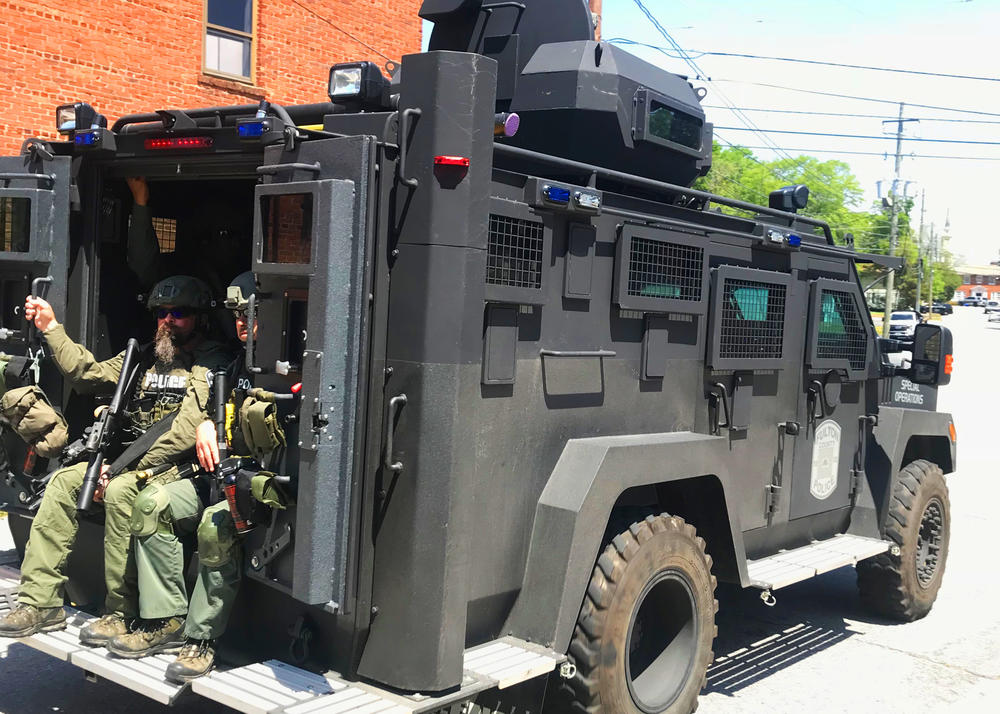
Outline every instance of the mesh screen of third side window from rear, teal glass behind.
POLYGON ((722 291, 719 357, 781 359, 785 286, 727 278, 722 291))

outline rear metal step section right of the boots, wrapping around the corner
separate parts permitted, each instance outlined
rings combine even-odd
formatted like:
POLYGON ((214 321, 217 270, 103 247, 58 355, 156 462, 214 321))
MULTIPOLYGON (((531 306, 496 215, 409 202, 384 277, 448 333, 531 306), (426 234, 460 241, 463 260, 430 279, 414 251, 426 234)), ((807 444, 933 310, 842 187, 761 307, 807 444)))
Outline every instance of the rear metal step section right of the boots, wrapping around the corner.
POLYGON ((407 697, 277 660, 213 672, 196 679, 191 689, 246 714, 418 714, 547 674, 564 659, 544 647, 505 637, 466 650, 462 686, 440 697, 407 697))

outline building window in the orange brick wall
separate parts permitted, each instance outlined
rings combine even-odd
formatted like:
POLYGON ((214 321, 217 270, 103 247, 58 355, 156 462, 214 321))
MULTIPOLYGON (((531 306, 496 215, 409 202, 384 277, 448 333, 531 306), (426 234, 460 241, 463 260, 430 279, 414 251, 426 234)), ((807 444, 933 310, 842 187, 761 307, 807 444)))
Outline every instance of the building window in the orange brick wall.
POLYGON ((204 71, 253 81, 256 0, 205 0, 204 71))

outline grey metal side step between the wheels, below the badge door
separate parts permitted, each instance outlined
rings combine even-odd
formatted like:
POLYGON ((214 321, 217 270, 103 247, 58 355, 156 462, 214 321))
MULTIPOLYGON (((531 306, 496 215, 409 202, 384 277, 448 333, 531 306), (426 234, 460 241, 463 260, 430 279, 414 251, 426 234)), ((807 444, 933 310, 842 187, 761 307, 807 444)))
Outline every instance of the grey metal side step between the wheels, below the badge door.
POLYGON ((878 538, 841 534, 828 540, 783 550, 747 563, 751 587, 777 590, 822 573, 855 565, 859 560, 889 550, 891 543, 878 538))

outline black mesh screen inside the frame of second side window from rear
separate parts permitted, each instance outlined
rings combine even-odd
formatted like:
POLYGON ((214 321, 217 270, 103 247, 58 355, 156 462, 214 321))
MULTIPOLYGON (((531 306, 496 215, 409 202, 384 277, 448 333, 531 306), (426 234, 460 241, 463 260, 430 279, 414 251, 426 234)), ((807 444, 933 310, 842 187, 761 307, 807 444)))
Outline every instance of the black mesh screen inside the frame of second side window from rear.
POLYGON ((633 238, 629 251, 628 294, 701 300, 704 251, 697 246, 633 238))

